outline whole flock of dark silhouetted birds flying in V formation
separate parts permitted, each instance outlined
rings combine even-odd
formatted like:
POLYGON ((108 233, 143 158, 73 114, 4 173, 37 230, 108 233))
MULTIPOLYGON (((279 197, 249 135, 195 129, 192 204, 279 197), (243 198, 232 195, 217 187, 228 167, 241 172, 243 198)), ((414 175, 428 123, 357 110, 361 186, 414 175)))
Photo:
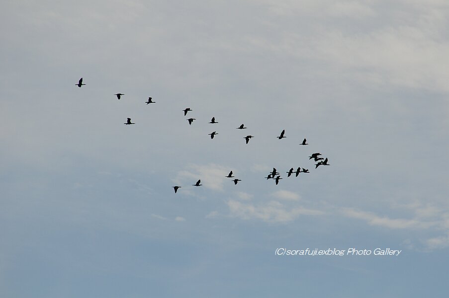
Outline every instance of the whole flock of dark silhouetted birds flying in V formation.
MULTIPOLYGON (((75 84, 75 85, 81 88, 81 86, 86 85, 86 84, 83 84, 83 78, 80 78, 80 80, 78 81, 78 84, 75 84)), ((123 93, 116 93, 116 94, 114 94, 114 95, 117 96, 117 99, 120 99, 121 96, 123 96, 123 95, 125 95, 125 94, 123 94, 123 93)), ((152 98, 152 97, 148 97, 148 101, 146 101, 145 103, 146 103, 146 104, 150 104, 150 103, 156 103, 156 102, 153 101, 153 98, 152 98)), ((192 111, 192 109, 190 109, 190 108, 185 108, 185 109, 182 110, 182 111, 184 111, 184 116, 187 116, 187 113, 188 113, 189 111, 192 111)), ((189 124, 189 125, 192 125, 193 121, 196 120, 196 119, 195 119, 195 118, 188 118, 188 119, 186 119, 186 120, 188 121, 188 124, 189 124)), ((212 119, 211 119, 211 121, 210 121, 209 123, 210 123, 210 124, 215 124, 215 123, 218 123, 218 122, 215 121, 215 117, 212 117, 212 119)), ((125 124, 125 125, 131 125, 131 124, 135 124, 135 123, 131 122, 131 118, 127 118, 127 122, 125 122, 124 124, 125 124)), ((242 124, 242 125, 240 125, 239 127, 237 127, 236 129, 247 129, 247 127, 245 127, 245 125, 242 124)), ((217 133, 216 131, 214 131, 214 132, 210 133, 209 135, 210 135, 210 138, 213 139, 213 138, 215 137, 215 135, 218 135, 218 133, 217 133)), ((279 140, 281 140, 281 139, 283 139, 283 138, 286 138, 284 135, 285 135, 285 130, 282 130, 282 132, 280 133, 279 137, 276 137, 276 138, 279 139, 279 140)), ((248 143, 250 142, 250 139, 251 139, 251 138, 254 138, 254 136, 248 135, 248 136, 243 137, 243 138, 246 140, 246 144, 248 144, 248 143)), ((299 144, 299 145, 305 146, 305 145, 309 145, 309 144, 307 144, 307 140, 304 139, 304 140, 302 141, 302 143, 299 144)), ((315 153, 312 153, 312 154, 309 156, 309 160, 310 160, 310 159, 314 159, 314 161, 317 162, 317 163, 315 164, 315 169, 318 168, 320 165, 330 165, 330 164, 328 163, 328 158, 327 158, 327 157, 326 157, 326 158, 320 157, 320 155, 322 155, 322 154, 319 153, 319 152, 315 152, 315 153)), ((308 170, 308 169, 305 169, 305 168, 298 167, 298 168, 296 169, 296 171, 295 171, 294 168, 290 168, 290 170, 288 170, 288 172, 286 172, 286 173, 287 173, 287 177, 290 177, 293 173, 295 174, 295 177, 298 177, 299 173, 309 173, 309 170, 308 170), (301 170, 301 169, 302 169, 302 170, 301 170)), ((229 174, 228 174, 226 177, 227 177, 227 178, 235 178, 235 176, 233 176, 232 174, 233 174, 232 171, 230 171, 229 174)), ((265 178, 266 178, 267 180, 268 180, 268 179, 273 179, 273 180, 275 181, 276 185, 279 183, 279 180, 280 180, 280 179, 283 179, 283 178, 281 178, 280 173, 277 172, 277 170, 276 170, 275 168, 273 168, 273 170, 272 170, 272 171, 268 174, 268 176, 265 177, 265 178)), ((234 184, 237 185, 237 183, 238 183, 239 181, 242 181, 242 180, 236 178, 236 179, 233 179, 232 181, 234 181, 234 184)), ((201 179, 198 179, 198 181, 196 181, 195 184, 192 184, 192 186, 201 186, 201 185, 202 185, 202 184, 201 184, 201 179)), ((181 186, 178 186, 178 185, 172 186, 172 187, 174 188, 175 193, 177 193, 177 192, 178 192, 178 189, 181 188, 181 186)))

